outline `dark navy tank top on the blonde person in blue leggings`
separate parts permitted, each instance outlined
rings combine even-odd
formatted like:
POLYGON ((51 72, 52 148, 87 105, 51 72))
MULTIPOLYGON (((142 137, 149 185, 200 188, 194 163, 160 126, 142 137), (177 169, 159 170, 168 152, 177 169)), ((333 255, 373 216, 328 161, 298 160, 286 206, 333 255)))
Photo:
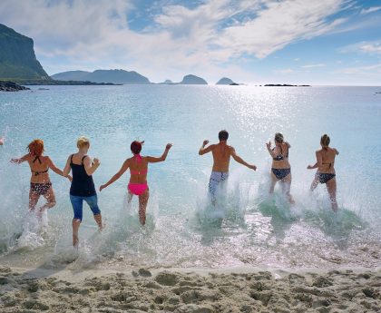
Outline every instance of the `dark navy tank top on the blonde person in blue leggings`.
POLYGON ((84 170, 83 160, 87 157, 85 155, 81 160, 81 165, 73 163, 73 154, 70 159, 70 167, 73 172, 72 186, 70 187, 70 194, 78 197, 92 197, 96 195, 93 176, 87 175, 84 170))

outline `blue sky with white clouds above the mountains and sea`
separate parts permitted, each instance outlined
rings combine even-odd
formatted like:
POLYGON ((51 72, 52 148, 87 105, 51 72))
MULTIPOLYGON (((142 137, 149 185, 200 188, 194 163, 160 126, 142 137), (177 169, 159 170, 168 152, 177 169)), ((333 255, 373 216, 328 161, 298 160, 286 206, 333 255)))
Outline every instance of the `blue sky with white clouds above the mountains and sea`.
POLYGON ((381 84, 381 0, 2 0, 47 73, 381 84))

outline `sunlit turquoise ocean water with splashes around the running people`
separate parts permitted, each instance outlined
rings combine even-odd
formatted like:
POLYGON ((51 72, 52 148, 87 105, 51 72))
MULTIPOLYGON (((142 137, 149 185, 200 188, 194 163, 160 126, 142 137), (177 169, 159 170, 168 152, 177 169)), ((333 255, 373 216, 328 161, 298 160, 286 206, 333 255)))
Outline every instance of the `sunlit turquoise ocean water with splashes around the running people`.
MULTIPOLYGON (((381 87, 50 86, 0 93, 0 263, 18 267, 81 269, 131 267, 267 266, 274 268, 381 266, 381 87), (200 157, 203 140, 221 129, 250 171, 230 163, 228 191, 216 208, 207 198, 212 158, 200 157), (276 188, 269 196, 271 160, 265 143, 282 132, 296 205, 276 188), (315 151, 323 133, 337 156, 335 215, 324 185, 311 196, 315 151), (99 232, 84 205, 78 251, 71 246, 69 181, 51 172, 57 204, 38 224, 27 212, 30 171, 9 160, 42 138, 59 168, 76 152, 80 135, 101 160, 97 188, 131 156, 133 140, 151 164, 151 199, 145 227, 137 200, 126 204, 129 174, 98 193, 106 228, 99 232), (213 220, 223 217, 221 225, 213 220)), ((42 203, 42 201, 40 202, 42 203)))

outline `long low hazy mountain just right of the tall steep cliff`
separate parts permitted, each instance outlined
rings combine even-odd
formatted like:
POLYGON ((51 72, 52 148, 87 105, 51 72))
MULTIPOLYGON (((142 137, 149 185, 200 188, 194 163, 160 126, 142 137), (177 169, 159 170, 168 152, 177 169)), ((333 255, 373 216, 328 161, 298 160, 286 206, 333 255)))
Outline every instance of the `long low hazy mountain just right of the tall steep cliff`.
POLYGON ((69 71, 55 73, 52 78, 58 81, 89 81, 93 83, 150 83, 147 77, 134 71, 124 70, 96 70, 94 72, 69 71))

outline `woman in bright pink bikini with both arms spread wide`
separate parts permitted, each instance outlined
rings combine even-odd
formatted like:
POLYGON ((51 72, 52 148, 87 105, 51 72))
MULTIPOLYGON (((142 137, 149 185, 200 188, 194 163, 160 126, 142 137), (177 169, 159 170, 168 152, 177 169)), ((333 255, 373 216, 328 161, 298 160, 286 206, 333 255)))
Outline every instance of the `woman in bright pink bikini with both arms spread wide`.
POLYGON ((132 201, 133 195, 139 197, 139 220, 141 221, 141 224, 144 225, 145 210, 147 209, 148 198, 150 197, 150 191, 147 184, 148 163, 165 161, 172 145, 171 143, 168 143, 161 157, 157 158, 151 156, 141 156, 140 153, 142 151, 142 143, 143 142, 132 142, 132 158, 124 161, 121 170, 113 175, 110 181, 107 181, 104 185, 102 185, 100 191, 111 185, 112 182, 118 181, 122 174, 130 168, 131 177, 127 188, 130 196, 129 202, 132 201))

